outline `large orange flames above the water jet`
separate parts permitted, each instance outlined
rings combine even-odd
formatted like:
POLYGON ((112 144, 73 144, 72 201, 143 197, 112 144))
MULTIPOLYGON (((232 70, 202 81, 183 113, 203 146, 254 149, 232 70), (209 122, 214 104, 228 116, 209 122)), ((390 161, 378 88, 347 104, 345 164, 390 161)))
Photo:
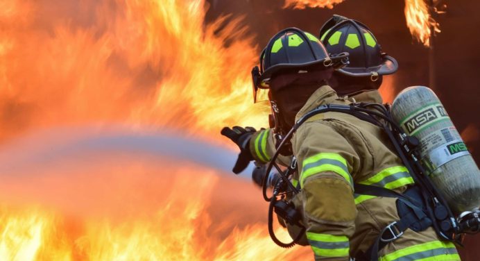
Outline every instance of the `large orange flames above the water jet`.
POLYGON ((117 122, 217 134, 266 126, 252 106, 257 48, 196 1, 1 1, 0 138, 117 122), (119 106, 121 105, 121 106, 119 106))

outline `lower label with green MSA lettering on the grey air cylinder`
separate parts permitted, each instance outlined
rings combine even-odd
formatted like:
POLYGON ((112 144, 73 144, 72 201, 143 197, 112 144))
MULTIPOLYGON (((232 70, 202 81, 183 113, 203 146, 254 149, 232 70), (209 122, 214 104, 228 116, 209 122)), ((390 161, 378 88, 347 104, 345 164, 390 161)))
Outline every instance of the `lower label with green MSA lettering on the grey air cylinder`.
POLYGON ((463 155, 470 155, 467 146, 462 140, 454 140, 431 150, 423 162, 430 171, 434 171, 445 163, 459 158, 463 155))

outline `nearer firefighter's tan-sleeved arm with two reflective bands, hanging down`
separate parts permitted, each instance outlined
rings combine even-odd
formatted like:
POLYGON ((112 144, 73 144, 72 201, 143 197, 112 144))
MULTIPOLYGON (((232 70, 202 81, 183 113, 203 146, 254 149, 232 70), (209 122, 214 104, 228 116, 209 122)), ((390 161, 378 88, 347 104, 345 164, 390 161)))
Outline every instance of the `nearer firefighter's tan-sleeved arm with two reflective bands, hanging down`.
POLYGON ((316 260, 348 260, 357 215, 352 173, 359 157, 331 127, 307 122, 296 133, 302 210, 316 260))

